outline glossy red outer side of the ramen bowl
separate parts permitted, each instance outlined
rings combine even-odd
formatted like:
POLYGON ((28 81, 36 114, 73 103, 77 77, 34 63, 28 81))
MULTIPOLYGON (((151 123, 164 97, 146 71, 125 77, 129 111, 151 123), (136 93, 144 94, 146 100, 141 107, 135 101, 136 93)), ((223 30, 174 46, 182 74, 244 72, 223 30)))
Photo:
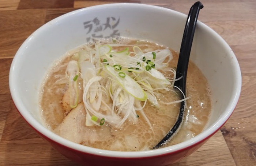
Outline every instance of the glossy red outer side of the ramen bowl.
MULTIPOLYGON (((15 106, 16 107, 16 106, 15 106)), ((17 109, 17 107, 16 107, 17 109)), ((17 109, 18 110, 18 109, 17 109)), ((18 110, 19 114, 20 111, 18 110)), ((22 116, 22 114, 20 114, 22 116)), ((27 120, 22 116, 22 118, 27 122, 27 120)), ((28 123, 28 122, 27 122, 28 123)), ((226 123, 226 122, 225 122, 226 123)), ((224 123, 224 124, 225 124, 224 123)), ((28 123, 29 124, 29 123, 28 123)), ((223 125, 224 125, 223 124, 223 125)), ((200 142, 195 143, 189 147, 186 147, 181 150, 177 150, 171 153, 166 153, 163 155, 156 155, 153 157, 141 157, 141 158, 123 158, 123 157, 106 157, 101 155, 94 155, 90 153, 85 153, 82 151, 78 151, 72 149, 70 147, 64 146, 52 139, 46 137, 38 130, 36 130, 33 126, 29 124, 29 126, 34 129, 44 140, 50 143, 50 145, 59 151, 59 153, 63 154, 65 157, 71 159, 74 162, 77 162, 84 166, 102 166, 102 165, 111 165, 111 166, 167 166, 172 163, 176 163, 188 157, 194 151, 199 149, 204 143, 208 141, 208 139, 214 135, 218 130, 214 131, 211 135, 206 137, 200 142)))

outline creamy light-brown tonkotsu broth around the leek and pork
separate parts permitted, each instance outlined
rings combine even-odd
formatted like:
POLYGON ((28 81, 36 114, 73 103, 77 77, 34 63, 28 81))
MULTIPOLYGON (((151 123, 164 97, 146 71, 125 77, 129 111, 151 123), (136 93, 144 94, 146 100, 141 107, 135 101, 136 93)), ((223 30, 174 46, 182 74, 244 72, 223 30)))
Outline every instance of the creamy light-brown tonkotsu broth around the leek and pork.
MULTIPOLYGON (((107 40, 107 43, 109 42, 113 43, 112 40, 107 40)), ((151 42, 125 38, 114 40, 114 43, 139 46, 143 52, 166 48, 151 42)), ((66 116, 61 105, 61 99, 67 89, 66 84, 58 84, 56 81, 65 77, 67 63, 72 59, 75 52, 88 48, 85 46, 68 52, 62 59, 56 61, 46 75, 42 86, 40 99, 42 117, 45 120, 46 127, 56 134, 59 134, 58 127, 66 116)), ((93 44, 91 44, 91 47, 94 47, 93 44)), ((118 49, 123 50, 126 47, 128 46, 121 46, 118 49)), ((132 51, 132 46, 129 46, 129 50, 132 51)), ((173 50, 171 52, 173 59, 169 63, 169 67, 175 68, 177 66, 178 53, 173 50)), ((191 96, 191 98, 187 100, 184 123, 178 133, 165 146, 175 145, 195 137, 202 132, 210 116, 211 98, 208 83, 199 68, 192 62, 189 62, 188 67, 187 96, 191 96)), ((171 102, 179 100, 179 97, 173 92, 165 92, 158 98, 159 101, 162 99, 171 102)), ((80 133, 83 135, 83 141, 78 143, 98 149, 116 151, 150 150, 172 128, 180 109, 179 103, 166 105, 159 102, 159 105, 160 108, 156 108, 151 106, 150 102, 147 102, 143 108, 144 113, 151 122, 152 129, 150 129, 146 120, 142 118, 140 112, 137 111, 139 115, 138 123, 134 124, 131 121, 125 121, 120 129, 109 125, 107 122, 102 126, 86 126, 84 124, 82 128, 86 128, 83 129, 86 134, 80 133)))

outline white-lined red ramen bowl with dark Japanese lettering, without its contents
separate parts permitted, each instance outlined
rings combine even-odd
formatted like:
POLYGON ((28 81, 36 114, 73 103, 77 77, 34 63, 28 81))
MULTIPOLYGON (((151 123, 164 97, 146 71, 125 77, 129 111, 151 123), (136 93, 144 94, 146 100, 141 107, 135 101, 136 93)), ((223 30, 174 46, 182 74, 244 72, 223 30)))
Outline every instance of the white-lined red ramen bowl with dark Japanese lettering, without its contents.
POLYGON ((149 40, 179 51, 187 16, 166 8, 143 4, 106 4, 79 9, 35 31, 16 53, 10 70, 12 99, 20 115, 57 151, 86 166, 165 166, 202 146, 227 121, 241 91, 241 72, 228 44, 197 22, 191 61, 206 76, 212 95, 208 125, 199 135, 161 149, 123 152, 95 149, 61 138, 41 119, 39 91, 54 60, 67 51, 102 37, 149 40))

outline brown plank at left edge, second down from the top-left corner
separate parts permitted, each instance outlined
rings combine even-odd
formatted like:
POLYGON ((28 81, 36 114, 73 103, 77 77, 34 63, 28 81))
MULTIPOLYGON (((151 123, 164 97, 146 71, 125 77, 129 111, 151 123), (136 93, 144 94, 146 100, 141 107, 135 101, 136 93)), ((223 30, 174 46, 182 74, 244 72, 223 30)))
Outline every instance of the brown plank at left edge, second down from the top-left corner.
POLYGON ((0 12, 0 58, 12 58, 20 45, 45 23, 45 9, 0 12))

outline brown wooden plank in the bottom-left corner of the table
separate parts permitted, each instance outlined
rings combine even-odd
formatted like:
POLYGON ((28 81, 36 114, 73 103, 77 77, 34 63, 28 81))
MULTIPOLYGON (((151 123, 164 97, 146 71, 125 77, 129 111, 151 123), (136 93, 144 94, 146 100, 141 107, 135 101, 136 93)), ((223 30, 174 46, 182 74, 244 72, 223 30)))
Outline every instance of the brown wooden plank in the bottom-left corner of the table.
POLYGON ((0 142, 0 165, 78 166, 42 138, 0 142))

